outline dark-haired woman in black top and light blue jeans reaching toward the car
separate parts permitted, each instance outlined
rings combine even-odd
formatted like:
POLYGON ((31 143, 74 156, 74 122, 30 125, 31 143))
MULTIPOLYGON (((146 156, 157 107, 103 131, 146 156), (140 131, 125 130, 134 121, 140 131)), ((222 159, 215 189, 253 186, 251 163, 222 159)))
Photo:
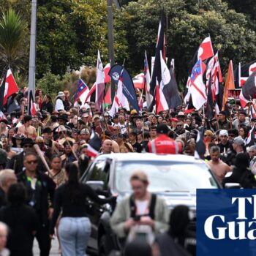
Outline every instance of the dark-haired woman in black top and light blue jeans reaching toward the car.
POLYGON ((91 223, 86 213, 86 198, 99 204, 111 203, 116 197, 99 198, 96 192, 86 184, 78 181, 78 167, 74 163, 65 168, 67 183, 56 189, 54 213, 50 225, 50 236, 62 209, 59 222, 59 238, 63 256, 84 256, 91 233, 91 223))

